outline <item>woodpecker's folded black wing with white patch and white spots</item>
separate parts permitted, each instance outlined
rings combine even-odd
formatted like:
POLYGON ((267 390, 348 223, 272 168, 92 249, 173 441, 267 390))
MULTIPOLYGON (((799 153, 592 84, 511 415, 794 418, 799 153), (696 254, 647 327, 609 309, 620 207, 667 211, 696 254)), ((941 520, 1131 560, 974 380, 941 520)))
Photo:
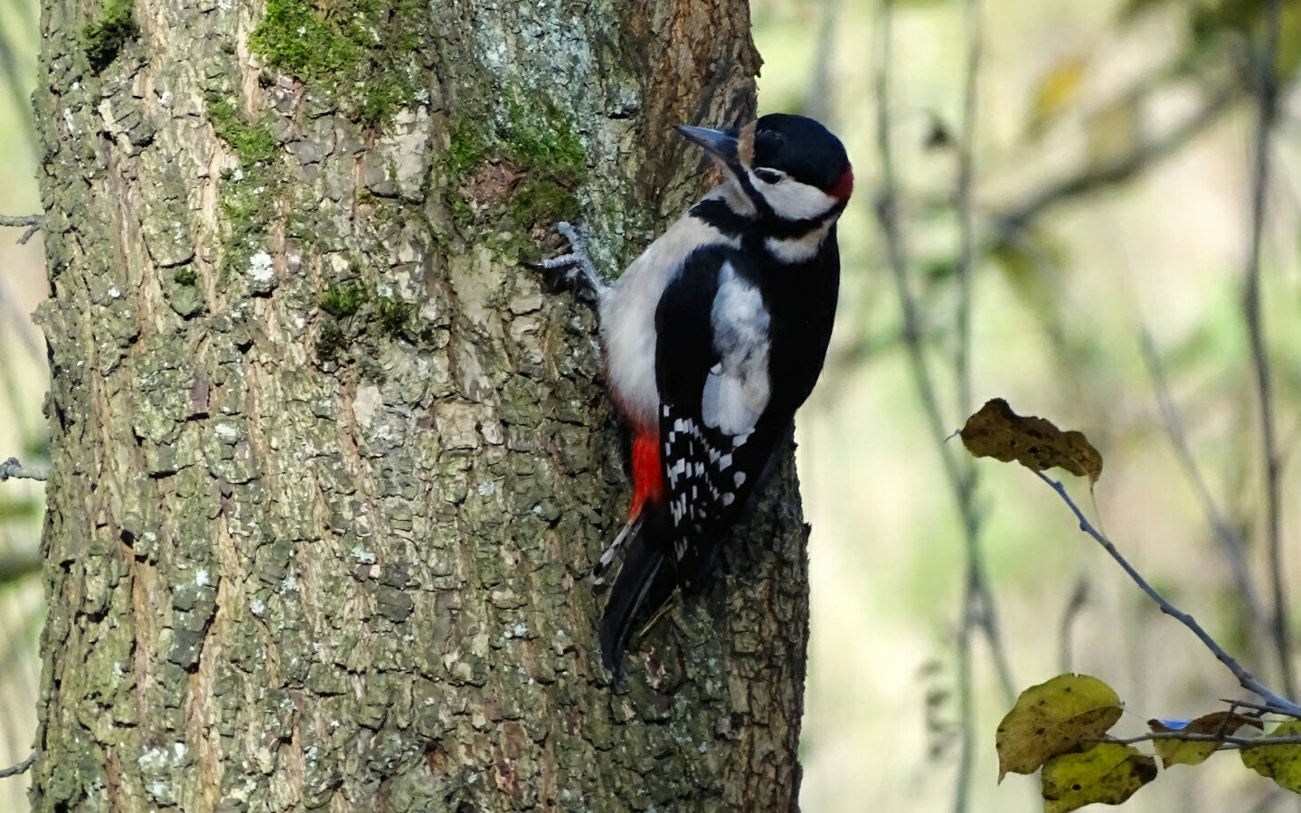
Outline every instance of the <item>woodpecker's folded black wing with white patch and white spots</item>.
POLYGON ((744 254, 693 254, 656 312, 665 507, 678 581, 697 587, 790 415, 769 410, 769 312, 744 254))

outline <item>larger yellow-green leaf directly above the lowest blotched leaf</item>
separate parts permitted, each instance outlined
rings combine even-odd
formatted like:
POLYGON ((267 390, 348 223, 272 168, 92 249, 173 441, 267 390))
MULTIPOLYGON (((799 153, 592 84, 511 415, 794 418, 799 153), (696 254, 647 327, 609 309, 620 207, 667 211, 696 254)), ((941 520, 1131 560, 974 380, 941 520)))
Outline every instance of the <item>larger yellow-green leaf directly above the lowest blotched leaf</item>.
POLYGON ((1033 774, 1046 760, 1099 739, 1120 713, 1115 691, 1089 675, 1058 675, 1032 686, 998 725, 998 780, 1008 773, 1033 774))

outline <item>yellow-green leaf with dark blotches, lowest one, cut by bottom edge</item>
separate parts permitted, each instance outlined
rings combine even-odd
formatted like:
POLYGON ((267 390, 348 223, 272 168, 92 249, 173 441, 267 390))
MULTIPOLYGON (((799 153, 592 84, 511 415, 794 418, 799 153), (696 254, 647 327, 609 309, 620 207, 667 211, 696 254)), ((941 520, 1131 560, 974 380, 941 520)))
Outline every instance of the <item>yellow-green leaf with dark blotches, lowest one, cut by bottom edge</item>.
POLYGON ((1067 813, 1086 804, 1120 804, 1155 778, 1157 760, 1133 745, 1098 743, 1043 764, 1043 810, 1067 813))

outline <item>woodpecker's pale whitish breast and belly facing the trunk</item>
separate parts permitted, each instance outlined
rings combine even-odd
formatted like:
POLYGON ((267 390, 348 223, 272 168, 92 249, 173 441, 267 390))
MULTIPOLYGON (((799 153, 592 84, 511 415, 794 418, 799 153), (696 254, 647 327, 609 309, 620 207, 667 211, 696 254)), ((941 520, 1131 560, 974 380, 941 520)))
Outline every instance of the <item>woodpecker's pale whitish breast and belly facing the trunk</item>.
POLYGON ((624 418, 644 431, 660 421, 654 380, 654 312, 660 297, 687 256, 701 246, 739 242, 703 220, 684 215, 639 256, 601 298, 605 375, 624 418))

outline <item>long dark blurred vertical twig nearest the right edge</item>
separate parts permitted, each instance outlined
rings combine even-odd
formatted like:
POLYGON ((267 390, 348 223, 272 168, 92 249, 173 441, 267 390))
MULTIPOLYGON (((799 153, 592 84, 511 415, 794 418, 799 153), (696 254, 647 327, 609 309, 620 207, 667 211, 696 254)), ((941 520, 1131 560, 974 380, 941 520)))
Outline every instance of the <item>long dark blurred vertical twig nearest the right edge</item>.
POLYGON ((1278 116, 1279 83, 1276 57, 1279 51, 1279 0, 1266 8, 1265 51, 1259 59, 1257 96, 1259 117, 1255 130, 1255 164, 1252 173, 1252 246, 1248 252, 1242 311, 1252 346, 1255 392, 1261 410, 1261 457, 1265 464, 1266 553, 1270 563, 1270 593, 1274 615, 1270 619, 1274 648, 1278 650, 1283 688, 1294 693, 1292 679, 1292 633, 1288 627, 1287 592, 1283 587, 1281 473, 1274 425, 1274 384, 1268 353, 1265 347, 1265 325, 1261 313, 1261 242, 1265 233, 1266 202, 1270 185, 1270 134, 1278 116))

